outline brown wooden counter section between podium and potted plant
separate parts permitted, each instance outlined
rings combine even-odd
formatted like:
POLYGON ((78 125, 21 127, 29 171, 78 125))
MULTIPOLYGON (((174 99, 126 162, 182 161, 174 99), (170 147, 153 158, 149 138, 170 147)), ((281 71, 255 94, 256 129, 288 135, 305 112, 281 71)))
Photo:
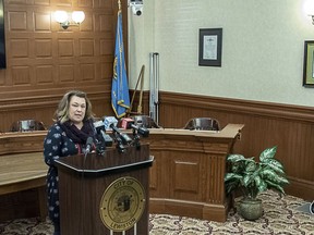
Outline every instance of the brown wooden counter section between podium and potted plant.
POLYGON ((150 129, 155 162, 150 169, 150 213, 169 213, 225 222, 226 157, 232 152, 244 125, 221 132, 150 129))

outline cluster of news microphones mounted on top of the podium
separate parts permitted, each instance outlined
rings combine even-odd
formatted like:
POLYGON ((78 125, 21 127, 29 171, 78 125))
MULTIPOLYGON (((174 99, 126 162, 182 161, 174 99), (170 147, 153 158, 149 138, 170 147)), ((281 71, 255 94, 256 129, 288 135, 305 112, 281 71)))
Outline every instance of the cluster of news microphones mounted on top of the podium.
POLYGON ((140 148, 140 138, 148 137, 149 129, 134 123, 133 119, 124 118, 121 120, 119 128, 117 127, 118 120, 114 116, 105 116, 102 120, 94 122, 95 135, 94 138, 87 138, 85 154, 92 151, 94 145, 98 154, 105 154, 106 148, 111 147, 113 144, 116 144, 120 152, 125 152, 128 146, 140 148), (132 129, 132 137, 123 133, 123 129, 132 129), (110 134, 108 134, 109 132, 110 134))

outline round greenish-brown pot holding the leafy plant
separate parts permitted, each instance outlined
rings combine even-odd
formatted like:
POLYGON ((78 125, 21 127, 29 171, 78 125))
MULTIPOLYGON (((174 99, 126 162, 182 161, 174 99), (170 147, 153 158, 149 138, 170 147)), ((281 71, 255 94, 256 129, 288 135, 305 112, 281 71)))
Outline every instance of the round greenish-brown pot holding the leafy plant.
POLYGON ((261 199, 243 198, 239 201, 239 213, 245 220, 257 220, 263 215, 263 212, 261 199))

